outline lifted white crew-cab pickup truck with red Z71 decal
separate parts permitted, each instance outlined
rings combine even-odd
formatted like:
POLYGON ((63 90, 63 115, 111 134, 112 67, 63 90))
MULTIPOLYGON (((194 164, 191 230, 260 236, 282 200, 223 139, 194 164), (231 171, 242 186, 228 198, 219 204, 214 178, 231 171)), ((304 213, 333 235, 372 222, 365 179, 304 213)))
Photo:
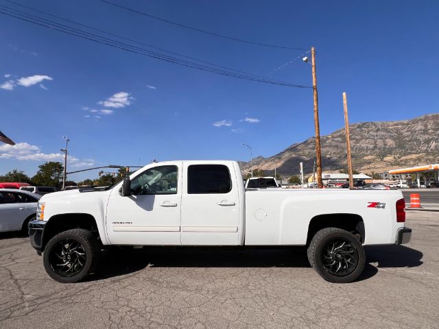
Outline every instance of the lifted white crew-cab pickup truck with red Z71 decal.
POLYGON ((245 190, 237 162, 182 160, 149 164, 105 190, 44 195, 29 235, 59 282, 93 273, 108 245, 302 245, 320 276, 351 282, 364 245, 410 241, 404 208, 400 191, 245 190))

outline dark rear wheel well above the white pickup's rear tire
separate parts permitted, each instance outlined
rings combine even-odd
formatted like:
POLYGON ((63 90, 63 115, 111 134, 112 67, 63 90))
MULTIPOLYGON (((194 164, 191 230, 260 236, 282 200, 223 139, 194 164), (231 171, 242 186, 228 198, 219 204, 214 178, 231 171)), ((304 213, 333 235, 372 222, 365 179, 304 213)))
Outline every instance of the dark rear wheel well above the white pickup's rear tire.
POLYGON ((361 243, 364 243, 366 237, 364 222, 359 215, 343 213, 318 215, 309 222, 307 245, 311 243, 313 236, 322 228, 341 228, 357 235, 361 243))

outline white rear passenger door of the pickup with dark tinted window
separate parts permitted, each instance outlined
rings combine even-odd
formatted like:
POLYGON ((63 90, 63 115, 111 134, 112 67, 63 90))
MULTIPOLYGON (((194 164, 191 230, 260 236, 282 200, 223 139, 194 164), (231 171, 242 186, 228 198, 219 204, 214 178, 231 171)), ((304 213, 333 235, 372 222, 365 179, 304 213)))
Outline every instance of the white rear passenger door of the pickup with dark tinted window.
POLYGON ((237 245, 239 194, 233 167, 185 162, 183 170, 182 245, 237 245))

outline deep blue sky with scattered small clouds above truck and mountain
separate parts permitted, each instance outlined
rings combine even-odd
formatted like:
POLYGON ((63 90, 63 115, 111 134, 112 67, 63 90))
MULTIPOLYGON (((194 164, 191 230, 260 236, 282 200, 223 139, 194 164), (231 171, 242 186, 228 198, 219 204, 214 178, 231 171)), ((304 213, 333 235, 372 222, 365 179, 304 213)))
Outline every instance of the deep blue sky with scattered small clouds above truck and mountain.
MULTIPOLYGON (((112 1, 235 38, 315 46, 322 134, 344 125, 343 91, 351 123, 438 112, 437 1, 112 1)), ((98 0, 16 2, 185 56, 311 85, 311 66, 299 57, 306 50, 217 38, 98 0)), ((314 133, 309 88, 188 69, 1 14, 0 58, 0 130, 18 144, 0 145, 0 175, 34 175, 38 164, 60 160, 63 135, 71 140, 71 171, 153 158, 248 160, 241 143, 254 156, 272 156, 314 133)), ((69 179, 96 177, 90 171, 69 179)))

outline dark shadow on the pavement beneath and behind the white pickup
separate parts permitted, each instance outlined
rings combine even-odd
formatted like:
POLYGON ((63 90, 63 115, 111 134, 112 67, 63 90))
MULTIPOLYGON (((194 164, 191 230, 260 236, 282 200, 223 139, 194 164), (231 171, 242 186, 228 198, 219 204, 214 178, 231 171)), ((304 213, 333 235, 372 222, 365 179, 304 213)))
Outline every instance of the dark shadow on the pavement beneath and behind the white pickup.
MULTIPOLYGON (((366 247, 366 266, 356 281, 367 280, 379 267, 417 267, 422 252, 402 245, 366 247), (378 263, 375 267, 370 263, 378 263)), ((310 267, 304 247, 276 249, 221 249, 176 247, 109 249, 102 252, 99 271, 89 281, 141 271, 146 267, 310 267)))

